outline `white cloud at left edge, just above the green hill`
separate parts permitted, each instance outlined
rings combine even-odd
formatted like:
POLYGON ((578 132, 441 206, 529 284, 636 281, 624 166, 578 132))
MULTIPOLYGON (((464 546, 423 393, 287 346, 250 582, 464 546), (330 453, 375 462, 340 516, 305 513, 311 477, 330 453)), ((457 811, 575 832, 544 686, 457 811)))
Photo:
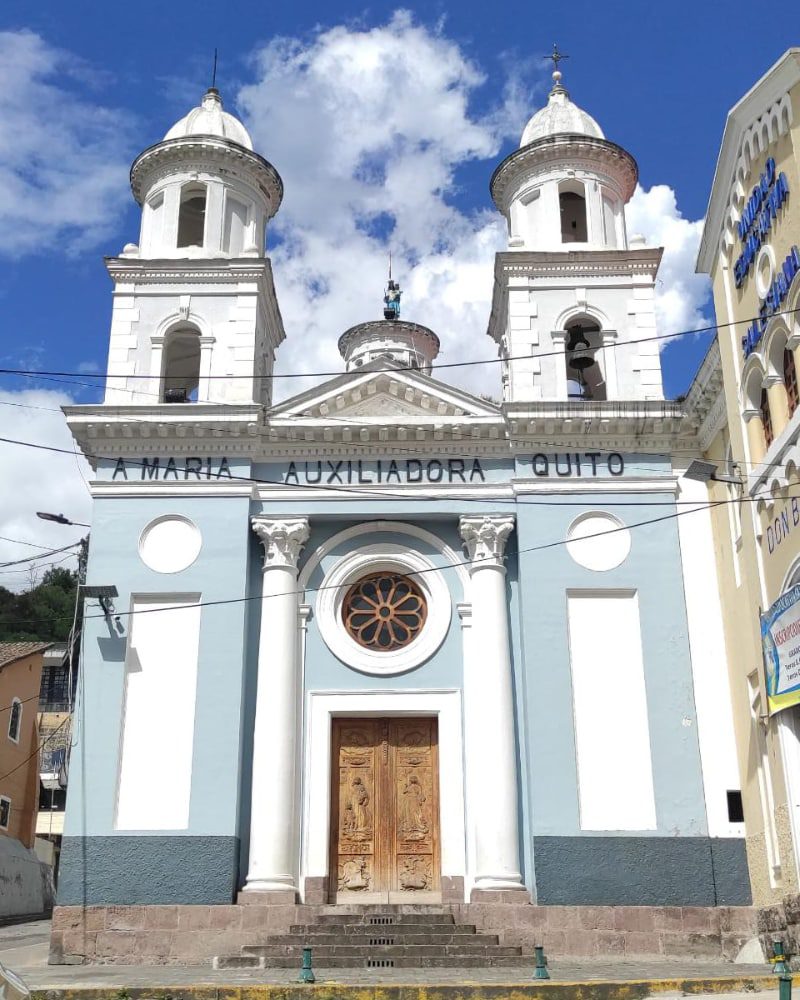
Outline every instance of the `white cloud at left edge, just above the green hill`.
MULTIPOLYGON (((72 402, 74 400, 65 393, 45 389, 0 390, 3 437, 72 449, 72 435, 59 409, 72 402)), ((33 546, 8 539, 61 548, 86 533, 85 528, 53 524, 36 517, 37 510, 44 510, 64 514, 72 521, 89 522, 91 499, 83 476, 88 478, 90 472, 84 458, 0 441, 0 465, 4 483, 0 505, 0 562, 23 559, 39 552, 33 546)), ((52 558, 60 559, 61 556, 52 558)), ((37 563, 48 561, 42 559, 37 563)), ((9 590, 26 589, 30 584, 27 565, 31 564, 0 568, 0 586, 9 590)), ((75 560, 69 557, 62 565, 74 568, 75 560)))

